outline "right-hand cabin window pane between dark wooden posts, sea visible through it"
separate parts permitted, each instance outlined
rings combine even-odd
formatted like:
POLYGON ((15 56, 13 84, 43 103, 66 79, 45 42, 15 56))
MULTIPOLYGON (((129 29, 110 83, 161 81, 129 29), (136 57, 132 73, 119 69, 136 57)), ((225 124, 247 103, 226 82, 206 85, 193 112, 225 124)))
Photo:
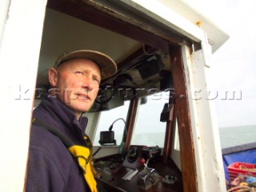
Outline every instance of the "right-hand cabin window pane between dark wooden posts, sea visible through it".
POLYGON ((134 125, 132 145, 164 146, 166 123, 160 121, 164 104, 168 103, 166 92, 148 96, 146 104, 140 104, 134 125))

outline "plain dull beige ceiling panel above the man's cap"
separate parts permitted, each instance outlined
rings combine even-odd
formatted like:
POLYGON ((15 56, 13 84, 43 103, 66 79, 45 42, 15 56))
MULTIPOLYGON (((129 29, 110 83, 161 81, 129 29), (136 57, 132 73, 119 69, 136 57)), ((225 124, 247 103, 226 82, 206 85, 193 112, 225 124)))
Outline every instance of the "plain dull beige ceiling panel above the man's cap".
POLYGON ((47 72, 64 52, 94 49, 106 53, 117 63, 128 57, 142 43, 80 19, 46 9, 38 66, 38 84, 47 84, 47 72))

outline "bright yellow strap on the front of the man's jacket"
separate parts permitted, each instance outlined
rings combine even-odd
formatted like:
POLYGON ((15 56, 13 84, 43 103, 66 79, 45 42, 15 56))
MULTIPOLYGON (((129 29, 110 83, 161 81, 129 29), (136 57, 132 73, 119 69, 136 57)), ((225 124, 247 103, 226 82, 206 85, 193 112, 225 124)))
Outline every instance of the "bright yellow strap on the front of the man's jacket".
POLYGON ((91 192, 97 192, 97 183, 94 179, 94 174, 91 170, 90 161, 90 150, 86 147, 74 145, 68 149, 70 153, 78 159, 78 163, 83 170, 83 176, 86 179, 88 186, 90 187, 91 192))

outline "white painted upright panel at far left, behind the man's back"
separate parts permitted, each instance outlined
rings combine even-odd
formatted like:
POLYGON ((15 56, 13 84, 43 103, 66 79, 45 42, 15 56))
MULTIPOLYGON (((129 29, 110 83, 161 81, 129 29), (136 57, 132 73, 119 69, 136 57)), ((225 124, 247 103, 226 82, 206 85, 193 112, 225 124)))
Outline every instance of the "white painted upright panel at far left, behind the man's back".
POLYGON ((24 187, 45 7, 46 0, 12 0, 1 25, 0 191, 24 187))

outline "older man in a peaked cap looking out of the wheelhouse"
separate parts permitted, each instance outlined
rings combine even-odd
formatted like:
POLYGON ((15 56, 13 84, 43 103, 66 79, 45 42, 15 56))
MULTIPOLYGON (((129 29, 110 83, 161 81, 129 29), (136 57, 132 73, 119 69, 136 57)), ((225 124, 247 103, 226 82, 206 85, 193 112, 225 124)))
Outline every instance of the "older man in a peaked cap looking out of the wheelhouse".
POLYGON ((49 70, 50 94, 33 112, 27 192, 97 191, 82 113, 116 71, 110 57, 91 50, 67 53, 49 70))

